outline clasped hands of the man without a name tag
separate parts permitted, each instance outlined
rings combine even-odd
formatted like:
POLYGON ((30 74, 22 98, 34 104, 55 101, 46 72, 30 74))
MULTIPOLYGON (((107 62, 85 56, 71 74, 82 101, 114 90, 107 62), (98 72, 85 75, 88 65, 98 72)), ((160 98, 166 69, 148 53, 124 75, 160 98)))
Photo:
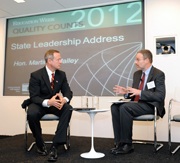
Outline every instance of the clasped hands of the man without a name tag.
POLYGON ((49 106, 54 106, 57 109, 61 110, 64 104, 66 103, 66 100, 59 94, 57 93, 54 95, 51 99, 48 101, 49 106))

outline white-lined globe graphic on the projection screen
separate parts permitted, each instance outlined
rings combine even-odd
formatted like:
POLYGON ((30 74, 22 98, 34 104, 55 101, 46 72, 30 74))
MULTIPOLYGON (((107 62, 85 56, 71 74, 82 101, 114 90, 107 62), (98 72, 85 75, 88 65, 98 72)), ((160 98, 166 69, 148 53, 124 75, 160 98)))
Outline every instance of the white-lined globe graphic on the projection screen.
POLYGON ((132 85, 137 51, 142 42, 109 47, 89 57, 78 67, 70 80, 73 92, 79 96, 115 96, 114 85, 132 85))

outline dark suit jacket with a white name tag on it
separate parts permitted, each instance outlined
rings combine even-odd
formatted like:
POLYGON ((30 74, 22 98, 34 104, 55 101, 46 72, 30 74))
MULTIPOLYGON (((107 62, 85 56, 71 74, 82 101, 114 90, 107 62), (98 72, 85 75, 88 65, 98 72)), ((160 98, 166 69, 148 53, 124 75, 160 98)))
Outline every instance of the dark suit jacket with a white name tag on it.
MULTIPOLYGON (((142 71, 136 71, 133 76, 133 88, 138 88, 141 79, 142 71)), ((165 74, 161 70, 152 66, 151 71, 145 85, 141 92, 141 101, 147 102, 157 107, 158 115, 163 117, 165 114, 164 100, 165 100, 165 74), (147 83, 154 81, 155 87, 148 88, 147 83)), ((133 99, 132 99, 133 100, 133 99)))

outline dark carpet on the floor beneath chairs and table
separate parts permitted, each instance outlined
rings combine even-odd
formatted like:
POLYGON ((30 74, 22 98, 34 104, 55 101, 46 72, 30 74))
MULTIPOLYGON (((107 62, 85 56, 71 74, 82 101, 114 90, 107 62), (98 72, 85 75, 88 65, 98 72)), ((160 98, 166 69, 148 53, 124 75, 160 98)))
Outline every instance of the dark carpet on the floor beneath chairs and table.
MULTIPOLYGON (((43 135, 44 139, 52 140, 52 135, 43 135)), ((29 141, 33 141, 32 135, 29 141)), ((131 154, 114 156, 110 153, 113 147, 113 139, 94 138, 94 148, 97 152, 102 152, 105 157, 99 159, 81 158, 80 154, 89 152, 91 138, 71 136, 71 147, 65 151, 63 146, 58 149, 58 160, 61 163, 178 163, 180 162, 180 151, 175 155, 169 155, 168 143, 163 142, 164 147, 157 153, 153 152, 152 145, 134 144, 135 150, 131 154)), ((175 146, 177 144, 173 144, 175 146)), ((48 149, 50 145, 47 145, 48 149)), ((45 163, 48 156, 39 156, 36 153, 36 146, 26 152, 24 147, 24 135, 1 136, 0 137, 0 162, 2 163, 45 163)))

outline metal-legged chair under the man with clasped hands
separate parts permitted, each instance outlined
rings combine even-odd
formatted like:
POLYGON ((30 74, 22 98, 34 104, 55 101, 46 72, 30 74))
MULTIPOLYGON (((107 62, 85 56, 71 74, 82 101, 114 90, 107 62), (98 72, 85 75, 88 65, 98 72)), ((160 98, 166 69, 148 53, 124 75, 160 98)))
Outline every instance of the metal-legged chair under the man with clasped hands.
MULTIPOLYGON (((32 142, 28 147, 28 119, 27 119, 27 110, 28 105, 30 104, 30 99, 24 100, 21 104, 21 107, 25 109, 26 112, 26 124, 25 124, 25 150, 30 151, 36 142, 32 142)), ((54 114, 46 114, 41 118, 41 121, 59 121, 59 117, 54 114)), ((52 144, 52 141, 44 141, 45 144, 52 144)), ((67 139, 66 144, 64 144, 64 149, 68 150, 70 148, 70 126, 67 128, 67 139)))

